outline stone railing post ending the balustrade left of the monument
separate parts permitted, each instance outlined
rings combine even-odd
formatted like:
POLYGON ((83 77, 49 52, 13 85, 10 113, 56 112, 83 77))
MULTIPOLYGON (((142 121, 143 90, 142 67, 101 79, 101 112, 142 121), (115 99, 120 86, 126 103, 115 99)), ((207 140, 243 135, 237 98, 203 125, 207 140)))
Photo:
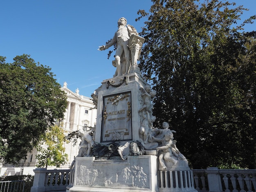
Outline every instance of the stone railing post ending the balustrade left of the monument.
POLYGON ((33 186, 30 192, 44 192, 45 191, 45 168, 37 168, 33 170, 35 173, 33 186))

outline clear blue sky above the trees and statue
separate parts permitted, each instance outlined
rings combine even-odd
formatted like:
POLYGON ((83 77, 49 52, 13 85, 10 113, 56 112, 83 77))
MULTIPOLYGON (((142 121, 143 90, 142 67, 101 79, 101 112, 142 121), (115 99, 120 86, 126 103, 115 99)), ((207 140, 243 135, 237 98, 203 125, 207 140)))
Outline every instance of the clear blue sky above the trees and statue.
MULTIPOLYGON (((244 5, 243 20, 256 14, 256 0, 229 0, 244 5)), ((144 21, 135 22, 137 11, 148 11, 150 0, 2 0, 0 2, 0 56, 13 62, 28 54, 36 62, 52 68, 62 86, 89 96, 102 80, 112 78, 115 68, 107 59, 108 50, 98 51, 117 30, 117 20, 125 17, 138 32, 144 21)), ((256 24, 245 31, 256 30, 256 24)))

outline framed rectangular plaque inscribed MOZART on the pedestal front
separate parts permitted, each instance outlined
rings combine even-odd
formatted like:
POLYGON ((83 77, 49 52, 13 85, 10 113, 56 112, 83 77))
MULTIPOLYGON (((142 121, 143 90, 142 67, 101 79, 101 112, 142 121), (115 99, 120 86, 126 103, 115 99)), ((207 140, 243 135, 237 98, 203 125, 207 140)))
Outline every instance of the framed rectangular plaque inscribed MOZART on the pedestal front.
POLYGON ((101 142, 132 140, 131 92, 103 97, 101 142))

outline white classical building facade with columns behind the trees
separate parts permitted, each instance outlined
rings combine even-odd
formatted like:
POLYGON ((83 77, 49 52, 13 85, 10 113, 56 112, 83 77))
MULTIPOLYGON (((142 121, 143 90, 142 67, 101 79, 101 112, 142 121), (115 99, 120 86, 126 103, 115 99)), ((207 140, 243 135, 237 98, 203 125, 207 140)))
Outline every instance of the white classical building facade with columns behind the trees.
MULTIPOLYGON (((64 118, 56 120, 56 124, 64 129, 65 134, 69 134, 79 129, 88 130, 90 127, 94 127, 96 124, 97 109, 94 109, 92 98, 79 95, 79 89, 76 92, 72 92, 67 88, 65 82, 61 87, 67 94, 67 108, 64 113, 64 118)), ((61 169, 68 169, 71 165, 74 157, 78 154, 79 139, 75 146, 73 143, 65 143, 65 153, 68 154, 68 161, 65 165, 61 166, 61 169)), ((33 170, 36 168, 36 155, 38 151, 34 149, 31 153, 27 154, 27 159, 22 159, 18 165, 6 164, 2 165, 0 176, 9 176, 14 174, 31 174, 34 175, 33 170)), ((49 166, 49 169, 56 167, 49 166)))

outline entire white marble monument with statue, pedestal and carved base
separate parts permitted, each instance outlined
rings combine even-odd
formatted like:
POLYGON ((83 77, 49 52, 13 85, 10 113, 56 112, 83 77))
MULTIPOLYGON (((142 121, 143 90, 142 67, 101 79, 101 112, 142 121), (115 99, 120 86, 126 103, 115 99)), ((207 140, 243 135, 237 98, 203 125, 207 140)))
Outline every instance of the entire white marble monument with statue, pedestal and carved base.
POLYGON ((81 134, 83 149, 74 161, 69 191, 196 192, 193 172, 176 147, 176 132, 166 122, 162 128, 153 127, 151 99, 157 93, 137 66, 144 38, 126 22, 120 18, 112 40, 99 47, 105 50, 117 43, 112 62, 117 70, 92 94, 97 124, 88 145, 83 136, 88 133, 81 134))

